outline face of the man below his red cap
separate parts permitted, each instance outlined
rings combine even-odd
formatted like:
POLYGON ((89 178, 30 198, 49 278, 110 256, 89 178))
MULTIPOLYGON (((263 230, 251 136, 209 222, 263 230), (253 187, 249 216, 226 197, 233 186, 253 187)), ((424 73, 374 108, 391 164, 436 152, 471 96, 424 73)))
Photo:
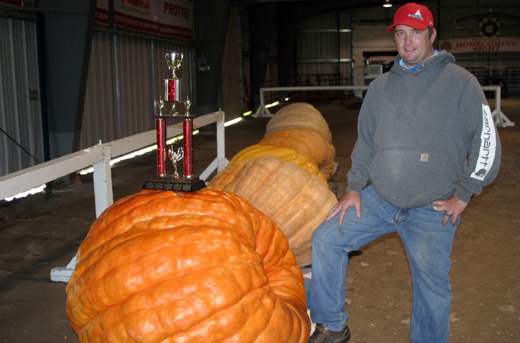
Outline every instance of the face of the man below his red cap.
POLYGON ((397 25, 394 30, 394 39, 399 56, 407 67, 413 67, 433 55, 433 41, 437 32, 433 29, 431 37, 428 28, 417 30, 408 25, 397 25))

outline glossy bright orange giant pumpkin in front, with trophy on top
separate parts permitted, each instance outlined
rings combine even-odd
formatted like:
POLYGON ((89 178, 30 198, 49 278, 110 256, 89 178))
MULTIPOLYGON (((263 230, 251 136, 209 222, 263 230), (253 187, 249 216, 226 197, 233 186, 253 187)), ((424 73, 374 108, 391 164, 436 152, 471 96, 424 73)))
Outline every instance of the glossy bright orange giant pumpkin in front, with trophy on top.
POLYGON ((306 342, 300 269, 235 194, 141 191, 92 225, 67 285, 80 341, 306 342))

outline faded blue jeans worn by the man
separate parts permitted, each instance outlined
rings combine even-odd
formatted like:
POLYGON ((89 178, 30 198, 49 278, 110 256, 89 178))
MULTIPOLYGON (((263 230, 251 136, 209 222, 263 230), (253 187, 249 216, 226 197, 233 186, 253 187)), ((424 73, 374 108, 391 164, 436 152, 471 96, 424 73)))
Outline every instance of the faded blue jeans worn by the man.
MULTIPOLYGON (((324 221, 313 234, 313 276, 310 314, 315 323, 340 331, 348 318, 345 279, 353 250, 398 232, 405 246, 413 281, 410 339, 412 342, 447 342, 451 286, 450 255, 457 226, 451 219, 443 227, 444 212, 432 205, 399 208, 384 201, 369 186, 361 192, 361 218, 354 207, 341 226, 337 216, 324 221)), ((457 221, 458 225, 459 221, 457 221)))

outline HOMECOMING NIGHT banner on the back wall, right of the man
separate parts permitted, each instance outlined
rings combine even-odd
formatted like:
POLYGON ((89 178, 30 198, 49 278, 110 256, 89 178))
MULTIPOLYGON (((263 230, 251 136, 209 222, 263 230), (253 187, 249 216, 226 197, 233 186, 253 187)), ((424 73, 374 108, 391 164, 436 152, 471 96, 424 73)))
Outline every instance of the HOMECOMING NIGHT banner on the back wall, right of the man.
POLYGON ((440 39, 439 47, 452 54, 459 52, 520 51, 520 37, 440 39))

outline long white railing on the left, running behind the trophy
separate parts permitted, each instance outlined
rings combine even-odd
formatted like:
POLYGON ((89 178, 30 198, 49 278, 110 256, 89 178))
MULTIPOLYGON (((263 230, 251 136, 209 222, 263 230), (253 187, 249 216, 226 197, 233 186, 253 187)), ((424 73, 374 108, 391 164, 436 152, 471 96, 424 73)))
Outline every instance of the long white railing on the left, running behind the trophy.
MULTIPOLYGON (((194 129, 212 123, 216 123, 217 126, 217 156, 202 172, 200 175, 201 179, 209 177, 215 169, 217 169, 217 171, 223 170, 228 162, 225 157, 224 117, 223 111, 217 111, 196 117, 193 120, 194 129)), ((166 132, 168 138, 183 134, 182 123, 168 126, 166 132)), ((74 152, 59 157, 58 159, 2 176, 0 177, 0 199, 14 196, 62 176, 74 173, 77 170, 93 166, 96 217, 99 217, 103 210, 113 204, 110 160, 113 157, 151 146, 156 142, 157 132, 150 130, 112 142, 97 144, 92 148, 74 152)), ((53 268, 50 272, 50 279, 53 281, 68 282, 75 265, 76 257, 74 256, 67 267, 53 268)))

